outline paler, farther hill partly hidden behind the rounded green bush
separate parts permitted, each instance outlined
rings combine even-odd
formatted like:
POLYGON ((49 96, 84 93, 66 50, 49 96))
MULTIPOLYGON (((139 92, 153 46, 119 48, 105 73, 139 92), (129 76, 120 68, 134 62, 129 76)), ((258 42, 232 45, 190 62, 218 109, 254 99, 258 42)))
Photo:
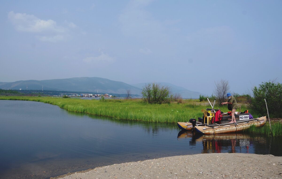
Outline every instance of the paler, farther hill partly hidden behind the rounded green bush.
MULTIPOLYGON (((149 83, 138 83, 138 84, 131 84, 131 85, 142 89, 145 86, 145 84, 149 84, 149 83)), ((204 95, 200 92, 190 91, 188 89, 173 85, 171 83, 159 82, 159 84, 170 87, 173 94, 178 93, 182 96, 182 98, 199 98, 200 94, 204 95)))

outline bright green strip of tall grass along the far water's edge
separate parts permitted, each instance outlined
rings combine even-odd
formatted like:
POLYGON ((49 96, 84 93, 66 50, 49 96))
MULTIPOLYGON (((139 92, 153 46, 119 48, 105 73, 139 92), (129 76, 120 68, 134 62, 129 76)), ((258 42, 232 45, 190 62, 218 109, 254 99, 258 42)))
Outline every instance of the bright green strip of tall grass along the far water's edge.
MULTIPOLYGON (((75 98, 53 98, 34 96, 0 96, 0 100, 27 100, 58 105, 68 111, 108 116, 116 119, 140 120, 151 122, 186 122, 190 118, 198 118, 203 114, 201 109, 211 108, 206 102, 199 100, 183 100, 182 103, 146 104, 140 99, 129 100, 84 100, 75 98)), ((215 109, 218 109, 215 106, 215 109)), ((221 107, 228 111, 227 106, 221 107)), ((245 106, 241 107, 241 111, 245 106)), ((255 114, 252 114, 255 117, 255 114)))

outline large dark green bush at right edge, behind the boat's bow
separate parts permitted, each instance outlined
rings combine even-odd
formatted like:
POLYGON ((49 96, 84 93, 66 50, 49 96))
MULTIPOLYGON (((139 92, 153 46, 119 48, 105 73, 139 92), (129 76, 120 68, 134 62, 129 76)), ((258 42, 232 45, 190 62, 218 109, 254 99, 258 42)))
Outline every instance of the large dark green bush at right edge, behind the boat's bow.
POLYGON ((260 115, 265 115, 267 102, 269 115, 272 117, 281 117, 282 112, 282 83, 274 83, 274 81, 262 82, 259 87, 254 87, 251 102, 252 110, 260 115))

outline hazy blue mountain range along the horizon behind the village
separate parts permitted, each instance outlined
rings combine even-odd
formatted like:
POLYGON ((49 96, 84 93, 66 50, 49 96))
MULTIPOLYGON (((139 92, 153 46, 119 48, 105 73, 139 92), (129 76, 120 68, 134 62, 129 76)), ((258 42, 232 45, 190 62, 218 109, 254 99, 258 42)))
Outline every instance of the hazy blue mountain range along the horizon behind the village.
MULTIPOLYGON (((67 79, 49 79, 49 80, 25 80, 15 82, 0 82, 0 89, 22 89, 22 90, 59 90, 59 91, 88 91, 92 93, 114 93, 126 94, 130 89, 131 94, 141 95, 142 88, 148 83, 127 84, 121 81, 113 81, 100 77, 79 77, 67 79), (98 91, 98 92, 97 92, 98 91)), ((183 87, 175 86, 171 83, 160 82, 171 88, 173 94, 179 93, 182 98, 199 98, 200 92, 190 91, 183 87)))

